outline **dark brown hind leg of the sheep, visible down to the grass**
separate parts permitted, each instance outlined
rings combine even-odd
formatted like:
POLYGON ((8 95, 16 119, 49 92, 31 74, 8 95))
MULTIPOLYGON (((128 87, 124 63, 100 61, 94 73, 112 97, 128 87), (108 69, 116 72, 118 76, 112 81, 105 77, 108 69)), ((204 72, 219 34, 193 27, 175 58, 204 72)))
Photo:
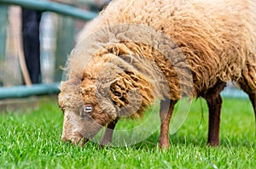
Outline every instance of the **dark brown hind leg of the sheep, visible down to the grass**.
POLYGON ((209 109, 207 144, 211 146, 218 146, 219 144, 219 125, 222 106, 220 92, 224 89, 225 85, 225 82, 218 82, 203 96, 207 100, 209 109))

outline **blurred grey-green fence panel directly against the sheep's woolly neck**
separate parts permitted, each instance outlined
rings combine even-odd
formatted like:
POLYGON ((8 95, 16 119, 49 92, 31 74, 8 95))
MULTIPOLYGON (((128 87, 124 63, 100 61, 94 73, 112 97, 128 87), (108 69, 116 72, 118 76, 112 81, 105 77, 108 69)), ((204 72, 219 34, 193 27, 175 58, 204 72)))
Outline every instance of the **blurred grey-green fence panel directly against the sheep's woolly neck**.
POLYGON ((60 82, 62 77, 62 69, 66 65, 67 56, 73 49, 74 37, 73 18, 67 16, 58 17, 58 28, 56 37, 55 51, 55 82, 60 82))

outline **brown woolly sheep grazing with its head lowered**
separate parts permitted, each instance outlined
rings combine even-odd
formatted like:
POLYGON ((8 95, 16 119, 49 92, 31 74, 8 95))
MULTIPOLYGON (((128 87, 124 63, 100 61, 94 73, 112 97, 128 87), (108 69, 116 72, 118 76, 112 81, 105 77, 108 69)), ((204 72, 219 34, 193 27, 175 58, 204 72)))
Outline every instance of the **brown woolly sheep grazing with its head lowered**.
POLYGON ((68 60, 61 139, 83 145, 107 126, 107 144, 119 118, 160 99, 159 143, 168 148, 173 107, 188 96, 207 100, 207 142, 218 145, 226 82, 249 95, 256 115, 255 11, 253 0, 113 0, 68 60))

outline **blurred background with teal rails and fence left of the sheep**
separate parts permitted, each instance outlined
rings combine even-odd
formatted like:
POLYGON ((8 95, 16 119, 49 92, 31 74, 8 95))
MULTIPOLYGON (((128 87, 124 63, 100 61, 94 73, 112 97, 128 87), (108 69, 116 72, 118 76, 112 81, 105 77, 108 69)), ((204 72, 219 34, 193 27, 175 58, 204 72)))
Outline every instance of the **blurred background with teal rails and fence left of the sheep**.
POLYGON ((0 0, 0 110, 37 107, 37 96, 56 99, 79 31, 108 3, 0 0))

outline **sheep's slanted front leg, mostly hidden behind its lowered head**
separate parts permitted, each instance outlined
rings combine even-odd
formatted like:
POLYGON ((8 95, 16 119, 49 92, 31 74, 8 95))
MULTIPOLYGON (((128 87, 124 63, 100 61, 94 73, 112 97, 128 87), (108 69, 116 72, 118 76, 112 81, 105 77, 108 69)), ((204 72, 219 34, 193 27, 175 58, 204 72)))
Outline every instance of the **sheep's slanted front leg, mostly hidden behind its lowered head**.
POLYGON ((100 143, 101 149, 104 148, 104 145, 112 143, 113 129, 117 122, 118 122, 118 120, 116 119, 116 120, 108 123, 106 131, 104 132, 104 135, 103 135, 101 143, 100 143))

